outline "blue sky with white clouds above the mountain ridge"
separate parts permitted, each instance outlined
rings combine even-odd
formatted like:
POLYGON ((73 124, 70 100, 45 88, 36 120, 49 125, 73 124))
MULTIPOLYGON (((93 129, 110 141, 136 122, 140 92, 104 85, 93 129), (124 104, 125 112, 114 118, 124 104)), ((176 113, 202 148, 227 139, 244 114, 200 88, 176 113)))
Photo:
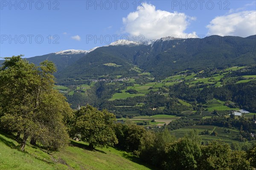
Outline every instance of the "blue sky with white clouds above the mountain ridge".
POLYGON ((256 34, 255 0, 0 0, 0 57, 211 34, 256 34))

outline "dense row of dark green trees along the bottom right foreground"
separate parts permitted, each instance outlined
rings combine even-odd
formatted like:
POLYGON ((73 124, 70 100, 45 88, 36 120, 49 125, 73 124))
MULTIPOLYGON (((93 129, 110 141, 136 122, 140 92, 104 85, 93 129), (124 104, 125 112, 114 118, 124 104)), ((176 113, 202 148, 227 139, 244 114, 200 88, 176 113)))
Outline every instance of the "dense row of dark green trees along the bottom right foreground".
POLYGON ((128 123, 116 125, 116 136, 116 147, 163 170, 252 170, 256 166, 256 146, 245 152, 231 150, 224 142, 202 144, 197 131, 176 139, 167 129, 146 131, 128 123))

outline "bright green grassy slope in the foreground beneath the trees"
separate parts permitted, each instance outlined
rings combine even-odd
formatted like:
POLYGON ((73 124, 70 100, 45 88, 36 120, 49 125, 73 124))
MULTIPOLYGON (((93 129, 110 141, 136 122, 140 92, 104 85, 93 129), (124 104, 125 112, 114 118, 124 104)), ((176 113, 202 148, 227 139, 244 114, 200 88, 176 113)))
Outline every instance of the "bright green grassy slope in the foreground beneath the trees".
POLYGON ((71 141, 59 152, 27 145, 21 152, 18 143, 0 133, 0 170, 150 170, 130 153, 109 148, 87 150, 87 144, 71 141))

